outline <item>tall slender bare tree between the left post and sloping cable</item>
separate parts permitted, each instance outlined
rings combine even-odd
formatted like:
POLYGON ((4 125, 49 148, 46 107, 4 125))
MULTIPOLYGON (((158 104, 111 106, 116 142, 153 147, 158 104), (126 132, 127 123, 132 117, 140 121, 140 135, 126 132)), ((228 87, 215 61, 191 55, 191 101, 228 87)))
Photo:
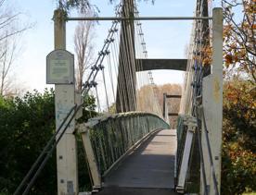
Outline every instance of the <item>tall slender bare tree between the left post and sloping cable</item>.
MULTIPOLYGON (((93 16, 94 13, 91 10, 87 10, 83 13, 86 17, 93 16)), ((75 29, 74 45, 76 54, 76 84, 77 90, 81 91, 83 84, 83 76, 85 70, 93 63, 94 55, 94 21, 80 21, 75 29)))

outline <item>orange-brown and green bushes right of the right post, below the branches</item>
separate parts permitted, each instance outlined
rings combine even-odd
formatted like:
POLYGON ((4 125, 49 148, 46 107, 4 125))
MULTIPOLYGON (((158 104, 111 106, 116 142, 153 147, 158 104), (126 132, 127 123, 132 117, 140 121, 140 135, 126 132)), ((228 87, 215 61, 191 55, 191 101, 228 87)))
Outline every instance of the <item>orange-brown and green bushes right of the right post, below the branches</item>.
POLYGON ((244 79, 224 85, 222 192, 256 190, 256 88, 244 79))

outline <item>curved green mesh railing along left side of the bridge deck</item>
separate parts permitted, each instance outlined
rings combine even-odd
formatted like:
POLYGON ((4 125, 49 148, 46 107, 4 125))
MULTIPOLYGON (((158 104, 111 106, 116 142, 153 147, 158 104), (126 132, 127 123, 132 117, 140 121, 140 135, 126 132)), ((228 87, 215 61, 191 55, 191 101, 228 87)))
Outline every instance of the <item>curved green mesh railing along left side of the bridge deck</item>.
POLYGON ((128 112, 91 118, 80 132, 89 131, 90 142, 101 176, 138 140, 159 128, 170 128, 160 117, 145 112, 128 112))

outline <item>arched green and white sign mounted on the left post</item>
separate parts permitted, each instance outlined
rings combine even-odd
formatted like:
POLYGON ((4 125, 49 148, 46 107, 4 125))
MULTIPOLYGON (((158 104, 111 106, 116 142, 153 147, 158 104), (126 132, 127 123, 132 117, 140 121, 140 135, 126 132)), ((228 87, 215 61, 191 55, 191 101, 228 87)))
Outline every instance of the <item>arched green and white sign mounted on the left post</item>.
POLYGON ((74 55, 66 50, 54 50, 46 56, 46 83, 74 83, 74 55))

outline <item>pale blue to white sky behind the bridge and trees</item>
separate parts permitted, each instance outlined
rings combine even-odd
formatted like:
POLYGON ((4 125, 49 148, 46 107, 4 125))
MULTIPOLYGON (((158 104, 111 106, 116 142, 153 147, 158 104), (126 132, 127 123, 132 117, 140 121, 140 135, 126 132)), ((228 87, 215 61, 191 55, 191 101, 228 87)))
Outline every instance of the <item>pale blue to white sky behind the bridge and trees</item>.
MULTIPOLYGON (((16 81, 27 90, 43 91, 45 87, 45 56, 54 49, 53 12, 54 0, 10 0, 15 9, 22 13, 20 23, 29 23, 32 28, 25 31, 20 40, 21 49, 15 62, 16 81)), ((114 4, 107 0, 92 0, 100 13, 99 17, 114 16, 114 4)), ((140 16, 189 17, 193 16, 195 2, 191 0, 156 0, 139 1, 140 16)), ((72 13, 71 17, 75 17, 72 13)), ((73 50, 73 32, 76 22, 67 23, 67 50, 73 50)), ((189 43, 192 21, 142 21, 142 28, 147 43, 148 58, 186 58, 186 45, 189 43)), ((96 25, 96 51, 102 47, 108 35, 109 21, 100 21, 96 25)), ((97 54, 97 52, 96 52, 97 54)), ((153 71, 156 84, 182 83, 183 72, 172 70, 153 71)))

